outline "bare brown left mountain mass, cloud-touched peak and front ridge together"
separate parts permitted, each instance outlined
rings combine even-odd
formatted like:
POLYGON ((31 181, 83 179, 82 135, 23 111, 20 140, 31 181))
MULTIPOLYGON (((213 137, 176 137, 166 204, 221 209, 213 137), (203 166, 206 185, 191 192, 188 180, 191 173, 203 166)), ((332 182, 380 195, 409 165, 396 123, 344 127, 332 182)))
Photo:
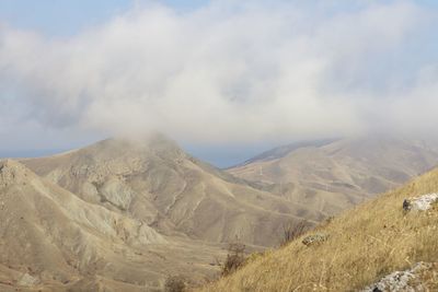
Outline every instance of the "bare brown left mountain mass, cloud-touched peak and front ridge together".
POLYGON ((279 243, 324 214, 254 188, 163 136, 0 161, 0 290, 161 291, 218 272, 239 240, 279 243))

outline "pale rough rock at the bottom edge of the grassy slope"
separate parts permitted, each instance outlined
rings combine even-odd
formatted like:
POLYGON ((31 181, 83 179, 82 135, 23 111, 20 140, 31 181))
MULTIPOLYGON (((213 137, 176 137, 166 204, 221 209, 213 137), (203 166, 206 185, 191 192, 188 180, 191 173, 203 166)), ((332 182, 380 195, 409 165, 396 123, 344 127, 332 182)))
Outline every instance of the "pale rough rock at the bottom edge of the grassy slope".
POLYGON ((361 292, 383 292, 383 291, 405 291, 415 292, 424 291, 422 284, 411 284, 412 280, 417 278, 417 273, 426 269, 430 264, 418 262, 412 269, 405 271, 394 271, 385 277, 383 277, 379 282, 366 287, 361 292))

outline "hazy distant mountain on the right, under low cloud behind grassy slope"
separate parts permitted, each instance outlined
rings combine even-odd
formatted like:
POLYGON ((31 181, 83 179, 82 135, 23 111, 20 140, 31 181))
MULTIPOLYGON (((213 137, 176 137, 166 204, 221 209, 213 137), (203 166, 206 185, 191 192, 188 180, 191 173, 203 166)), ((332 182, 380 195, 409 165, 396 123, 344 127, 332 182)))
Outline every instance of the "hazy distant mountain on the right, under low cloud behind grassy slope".
POLYGON ((334 214, 436 166, 436 145, 384 137, 304 142, 270 150, 227 172, 334 214))

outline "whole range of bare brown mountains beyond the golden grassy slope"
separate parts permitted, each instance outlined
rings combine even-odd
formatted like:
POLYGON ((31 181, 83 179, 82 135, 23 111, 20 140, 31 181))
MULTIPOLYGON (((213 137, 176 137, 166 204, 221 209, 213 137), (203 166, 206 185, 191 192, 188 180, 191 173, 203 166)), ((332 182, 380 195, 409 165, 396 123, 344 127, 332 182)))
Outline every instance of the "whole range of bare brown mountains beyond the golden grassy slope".
POLYGON ((320 141, 228 173, 155 135, 0 161, 0 291, 161 291, 176 275, 193 287, 217 275, 228 243, 277 245, 286 224, 316 224, 437 156, 397 140, 320 141))

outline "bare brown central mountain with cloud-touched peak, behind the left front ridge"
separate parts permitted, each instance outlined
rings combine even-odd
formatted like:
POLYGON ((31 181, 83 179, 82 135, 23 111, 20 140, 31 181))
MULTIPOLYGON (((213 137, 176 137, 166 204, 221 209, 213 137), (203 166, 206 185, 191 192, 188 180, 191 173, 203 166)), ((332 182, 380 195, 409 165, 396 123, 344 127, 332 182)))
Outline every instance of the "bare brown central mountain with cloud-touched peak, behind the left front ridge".
POLYGON ((168 235, 268 246, 278 243, 283 223, 324 218, 197 161, 162 136, 22 162, 83 200, 168 235))

